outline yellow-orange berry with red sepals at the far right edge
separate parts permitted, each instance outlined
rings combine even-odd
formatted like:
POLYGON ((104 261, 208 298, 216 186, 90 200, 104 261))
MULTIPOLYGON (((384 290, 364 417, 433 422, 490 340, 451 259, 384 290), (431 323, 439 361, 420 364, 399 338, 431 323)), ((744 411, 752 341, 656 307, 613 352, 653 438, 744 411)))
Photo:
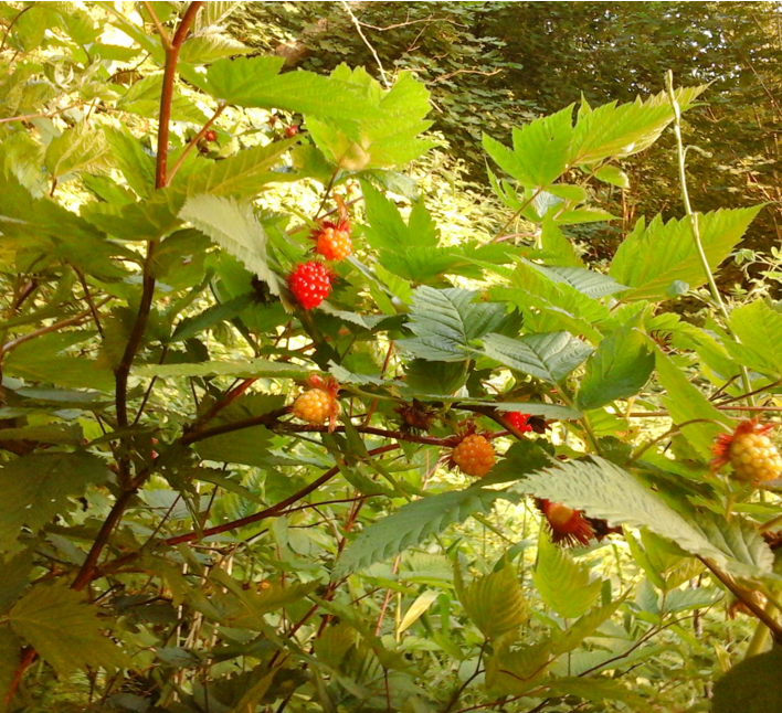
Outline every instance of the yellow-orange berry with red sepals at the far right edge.
POLYGON ((782 456, 767 436, 773 426, 758 421, 742 421, 732 434, 717 436, 711 470, 726 464, 733 467, 733 478, 753 485, 782 477, 782 456))

